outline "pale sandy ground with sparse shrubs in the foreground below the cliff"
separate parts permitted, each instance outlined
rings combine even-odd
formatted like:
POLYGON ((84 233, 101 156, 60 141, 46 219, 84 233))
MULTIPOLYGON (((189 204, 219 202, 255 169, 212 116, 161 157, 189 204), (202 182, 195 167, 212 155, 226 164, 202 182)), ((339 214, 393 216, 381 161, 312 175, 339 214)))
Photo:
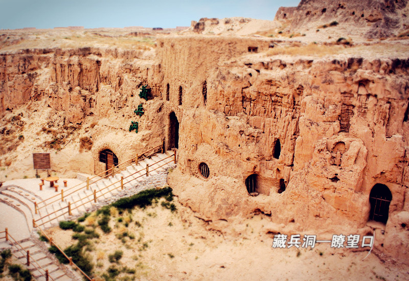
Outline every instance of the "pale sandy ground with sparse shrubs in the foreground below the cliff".
MULTIPOLYGON (((209 230, 208 224, 194 217, 177 198, 173 201, 177 206, 174 213, 160 201, 146 209, 136 207, 131 213, 111 216, 108 235, 96 227, 100 238, 93 239, 87 249, 95 264, 96 280, 103 280, 101 275, 109 266, 120 271, 125 266, 135 269, 134 274, 121 273, 118 280, 402 280, 408 276, 408 268, 384 263, 374 253, 362 261, 368 250, 353 252, 329 244, 316 244, 313 249, 272 248, 272 235, 261 232, 267 222, 262 215, 230 226, 231 233, 240 235, 223 236, 209 230), (120 234, 125 231, 134 238, 122 239, 120 234), (108 255, 116 250, 122 250, 123 257, 110 263, 108 255)), ((93 222, 95 227, 94 219, 82 224, 93 222)), ((48 231, 62 248, 76 242, 72 230, 55 227, 48 231)))

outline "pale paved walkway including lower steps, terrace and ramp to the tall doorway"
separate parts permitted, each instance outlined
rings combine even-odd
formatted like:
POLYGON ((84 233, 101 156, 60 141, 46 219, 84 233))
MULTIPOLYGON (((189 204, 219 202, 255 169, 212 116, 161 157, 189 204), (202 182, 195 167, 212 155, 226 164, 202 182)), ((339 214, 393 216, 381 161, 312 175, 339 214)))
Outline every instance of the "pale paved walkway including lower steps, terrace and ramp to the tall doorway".
MULTIPOLYGON (((35 254, 34 258, 41 266, 49 269, 50 276, 54 280, 81 279, 78 273, 60 265, 55 257, 47 251, 47 245, 37 239, 38 235, 36 229, 33 228, 33 219, 37 225, 42 224, 42 229, 49 228, 58 225, 59 221, 75 219, 85 212, 92 212, 121 197, 131 196, 156 186, 162 187, 166 185, 167 169, 175 167, 173 162, 167 163, 173 159, 173 157, 167 158, 171 154, 170 151, 165 154, 158 153, 149 159, 140 161, 138 165, 133 164, 127 167, 113 177, 100 179, 97 182, 95 180, 99 178, 95 178, 94 181, 90 182, 88 190, 86 189, 86 183, 80 183, 87 176, 91 178, 93 175, 78 174, 76 179, 61 178, 56 183, 59 185, 58 192, 55 192, 54 188, 50 188, 47 181, 44 182, 42 191, 40 191, 39 183, 41 180, 37 178, 6 181, 0 188, 0 231, 4 231, 7 227, 10 235, 19 243, 22 243, 26 250, 30 250, 31 255, 35 254), (154 162, 159 160, 162 161, 153 165, 154 162), (167 164, 164 165, 165 163, 167 164), (149 176, 146 176, 146 165, 149 165, 149 176), (160 167, 162 165, 164 166, 160 167), (123 190, 121 189, 121 176, 124 177, 124 183, 131 180, 123 185, 123 190), (63 180, 67 181, 67 188, 63 187, 63 180), (80 184, 78 187, 73 188, 78 184, 80 184), (61 188, 64 190, 64 194, 75 192, 69 196, 64 195, 62 201, 61 188), (72 189, 70 190, 70 188, 72 189), (78 191, 76 191, 77 189, 78 191), (94 193, 99 197, 97 203, 93 200, 94 193), (38 204, 52 196, 55 196, 55 198, 47 200, 48 205, 38 204), (38 204, 38 214, 35 214, 34 202, 38 204), (72 215, 68 214, 68 202, 71 203, 72 215)), ((58 244, 58 241, 56 243, 58 244)), ((4 239, 0 239, 0 250, 10 247, 4 239)), ((13 248, 13 253, 17 255, 22 264, 26 263, 24 254, 15 248, 13 248)), ((43 279, 33 266, 29 267, 29 269, 35 278, 38 280, 43 279)))

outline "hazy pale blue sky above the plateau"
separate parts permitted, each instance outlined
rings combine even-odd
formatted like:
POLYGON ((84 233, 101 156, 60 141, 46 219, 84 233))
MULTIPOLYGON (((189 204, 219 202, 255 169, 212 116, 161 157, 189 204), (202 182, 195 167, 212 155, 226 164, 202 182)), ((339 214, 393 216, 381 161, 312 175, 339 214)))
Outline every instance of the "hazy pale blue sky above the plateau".
POLYGON ((0 29, 67 26, 162 27, 190 26, 201 17, 274 19, 280 6, 300 0, 0 0, 0 29))

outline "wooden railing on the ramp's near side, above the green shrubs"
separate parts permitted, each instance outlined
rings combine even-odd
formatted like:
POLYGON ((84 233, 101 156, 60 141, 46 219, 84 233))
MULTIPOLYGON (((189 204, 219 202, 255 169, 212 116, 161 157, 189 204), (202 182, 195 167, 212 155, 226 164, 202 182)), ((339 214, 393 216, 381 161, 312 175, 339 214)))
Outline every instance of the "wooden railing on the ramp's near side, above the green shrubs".
MULTIPOLYGON (((148 156, 146 156, 146 157, 148 157, 148 156)), ((146 157, 145 157, 145 158, 146 158, 146 157)), ((135 180, 135 179, 138 179, 138 178, 140 178, 140 177, 142 177, 142 176, 145 176, 145 175, 146 175, 146 176, 149 176, 149 172, 152 172, 152 171, 154 171, 154 170, 157 170, 157 169, 159 169, 159 168, 161 168, 161 167, 163 167, 163 166, 169 164, 170 162, 176 163, 176 152, 174 152, 174 153, 171 154, 170 156, 168 156, 168 157, 166 157, 166 158, 163 158, 163 159, 161 159, 161 160, 158 160, 158 161, 154 162, 154 163, 151 164, 150 166, 152 167, 152 166, 154 166, 154 165, 156 165, 156 164, 158 164, 158 163, 160 163, 160 162, 162 162, 162 161, 164 161, 164 160, 166 160, 166 159, 169 159, 169 158, 171 158, 171 157, 172 157, 173 159, 171 159, 170 161, 167 161, 166 163, 162 163, 161 166, 158 166, 158 167, 152 169, 151 171, 149 171, 149 165, 147 164, 147 165, 146 165, 146 168, 144 168, 144 169, 141 169, 141 170, 139 170, 139 171, 137 171, 137 172, 134 172, 134 173, 132 173, 132 174, 126 176, 126 177, 121 177, 120 180, 118 180, 118 181, 116 181, 116 182, 113 182, 113 183, 111 183, 111 184, 105 186, 105 188, 102 188, 102 189, 100 189, 100 190, 98 190, 98 191, 94 190, 93 198, 90 199, 90 200, 88 200, 88 201, 83 202, 83 203, 80 204, 80 205, 76 205, 76 206, 74 206, 74 207, 72 206, 72 204, 75 204, 75 203, 78 203, 78 202, 80 202, 80 201, 82 201, 82 200, 88 199, 90 196, 92 196, 92 194, 89 194, 89 195, 85 196, 84 198, 80 198, 80 199, 78 199, 77 201, 74 201, 74 202, 67 202, 67 206, 62 207, 62 208, 59 208, 59 209, 55 210, 54 212, 52 212, 52 213, 50 213, 50 214, 47 214, 46 216, 43 216, 43 217, 41 217, 41 218, 39 218, 39 219, 37 219, 37 220, 34 220, 34 219, 33 219, 33 227, 36 227, 36 225, 37 225, 37 226, 42 226, 42 225, 44 225, 44 224, 46 224, 46 223, 49 223, 49 222, 51 222, 51 221, 53 221, 53 220, 55 220, 55 219, 57 219, 57 218, 59 218, 59 217, 65 215, 65 214, 68 214, 69 216, 71 216, 71 215, 72 215, 72 210, 77 209, 77 208, 79 208, 79 207, 81 207, 81 206, 83 206, 83 205, 85 205, 85 204, 87 204, 87 203, 90 203, 90 202, 92 202, 92 201, 94 201, 94 203, 96 203, 96 202, 97 202, 97 199, 98 199, 99 197, 102 197, 102 196, 104 196, 105 194, 107 194, 107 193, 109 193, 109 192, 112 192, 112 191, 117 190, 117 189, 119 189, 119 188, 121 188, 121 190, 123 190, 123 189, 124 189, 124 185, 127 184, 127 183, 129 183, 129 182, 131 182, 131 181, 133 181, 133 180, 135 180), (140 173, 140 172, 142 172, 142 171, 145 171, 145 173, 143 173, 143 174, 141 174, 141 175, 139 175, 139 176, 137 176, 137 177, 131 178, 131 179, 129 179, 128 181, 124 182, 124 179, 127 179, 127 178, 129 178, 129 177, 131 177, 131 176, 133 176, 133 175, 135 175, 135 174, 138 174, 138 173, 140 173), (118 184, 118 183, 120 183, 120 184, 119 184, 118 186, 116 186, 115 188, 113 188, 112 190, 108 190, 108 191, 102 193, 102 191, 108 189, 108 188, 111 187, 111 186, 115 186, 115 185, 118 184), (97 196, 97 193, 101 193, 101 194, 97 196), (62 211, 62 210, 64 210, 64 209, 67 209, 67 210, 66 210, 65 212, 59 214, 58 216, 56 216, 56 217, 54 217, 54 218, 52 218, 52 219, 49 219, 48 221, 45 221, 45 222, 42 221, 43 219, 45 219, 45 218, 47 218, 47 217, 50 217, 51 215, 54 215, 54 214, 56 214, 56 213, 58 213, 58 212, 60 212, 60 211, 62 211), (42 221, 42 222, 41 222, 41 223, 37 223, 37 222, 39 222, 39 221, 42 221)), ((58 194, 58 196, 59 196, 59 194, 58 194)), ((64 196, 63 196, 63 191, 61 191, 61 199, 62 199, 62 201, 63 201, 63 197, 64 197, 64 196)), ((58 200, 59 200, 59 199, 58 199, 58 200)), ((35 205, 35 207, 37 206, 36 203, 34 203, 34 205, 35 205)), ((37 214, 37 212, 36 212, 36 214, 37 214)))

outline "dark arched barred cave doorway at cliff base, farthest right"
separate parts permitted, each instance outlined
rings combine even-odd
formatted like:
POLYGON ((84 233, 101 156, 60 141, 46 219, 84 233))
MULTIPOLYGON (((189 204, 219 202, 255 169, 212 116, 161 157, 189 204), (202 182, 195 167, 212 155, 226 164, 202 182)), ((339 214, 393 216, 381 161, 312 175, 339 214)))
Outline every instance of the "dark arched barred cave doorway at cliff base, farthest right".
POLYGON ((369 202, 371 203, 371 212, 369 219, 387 223, 389 217, 389 205, 392 201, 392 193, 388 186, 377 183, 369 194, 369 202))

